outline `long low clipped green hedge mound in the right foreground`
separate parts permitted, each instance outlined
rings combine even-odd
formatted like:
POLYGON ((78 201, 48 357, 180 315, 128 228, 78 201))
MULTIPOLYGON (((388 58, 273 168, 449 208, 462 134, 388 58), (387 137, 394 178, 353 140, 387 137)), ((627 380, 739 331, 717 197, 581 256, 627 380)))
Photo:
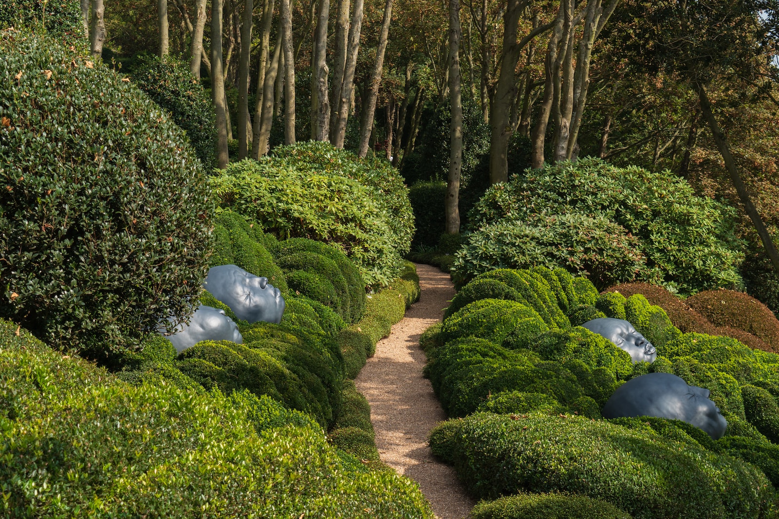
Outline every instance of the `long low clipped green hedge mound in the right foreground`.
POLYGON ((433 430, 430 443, 482 498, 562 491, 647 519, 761 517, 773 498, 753 465, 602 420, 478 414, 433 430))

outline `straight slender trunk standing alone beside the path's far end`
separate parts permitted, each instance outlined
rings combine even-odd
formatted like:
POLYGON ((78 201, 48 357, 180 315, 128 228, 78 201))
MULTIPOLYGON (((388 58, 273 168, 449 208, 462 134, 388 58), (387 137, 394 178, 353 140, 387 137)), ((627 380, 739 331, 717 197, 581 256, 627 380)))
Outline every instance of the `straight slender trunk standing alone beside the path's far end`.
POLYGON ((463 160, 463 96, 460 74, 460 2, 449 0, 449 182, 446 184, 446 233, 460 233, 460 167, 463 160))

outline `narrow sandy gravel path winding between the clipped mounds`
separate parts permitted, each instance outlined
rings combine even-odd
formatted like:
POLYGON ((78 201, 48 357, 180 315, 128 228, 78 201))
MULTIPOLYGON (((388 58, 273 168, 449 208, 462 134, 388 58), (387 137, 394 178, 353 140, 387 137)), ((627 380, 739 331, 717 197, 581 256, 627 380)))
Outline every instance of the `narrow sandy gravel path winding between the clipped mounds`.
POLYGON ((421 298, 406 317, 376 345, 376 354, 354 383, 371 404, 376 447, 382 461, 419 483, 439 519, 463 519, 474 501, 465 493, 454 469, 433 458, 427 436, 446 419, 430 381, 422 377, 425 352, 419 336, 440 321, 454 296, 449 275, 430 265, 417 265, 421 298))

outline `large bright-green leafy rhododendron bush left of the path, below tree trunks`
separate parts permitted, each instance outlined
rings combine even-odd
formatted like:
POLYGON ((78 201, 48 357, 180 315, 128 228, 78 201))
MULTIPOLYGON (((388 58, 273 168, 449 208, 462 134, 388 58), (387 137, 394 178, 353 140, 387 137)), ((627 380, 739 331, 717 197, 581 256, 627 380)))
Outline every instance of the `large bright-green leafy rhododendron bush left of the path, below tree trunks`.
POLYGON ((273 156, 231 164, 210 181, 223 207, 256 219, 267 232, 340 247, 369 286, 395 279, 411 244, 414 216, 397 171, 324 142, 278 147, 273 156))

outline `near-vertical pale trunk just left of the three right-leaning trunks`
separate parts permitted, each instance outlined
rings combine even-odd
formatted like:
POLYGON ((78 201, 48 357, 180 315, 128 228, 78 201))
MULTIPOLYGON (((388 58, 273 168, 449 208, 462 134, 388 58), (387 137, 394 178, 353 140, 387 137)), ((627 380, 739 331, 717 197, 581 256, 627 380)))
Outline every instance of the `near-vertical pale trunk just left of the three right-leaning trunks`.
POLYGON ((311 89, 311 139, 330 139, 330 97, 327 89, 327 23, 330 20, 330 0, 319 0, 319 12, 314 36, 314 74, 311 89))

